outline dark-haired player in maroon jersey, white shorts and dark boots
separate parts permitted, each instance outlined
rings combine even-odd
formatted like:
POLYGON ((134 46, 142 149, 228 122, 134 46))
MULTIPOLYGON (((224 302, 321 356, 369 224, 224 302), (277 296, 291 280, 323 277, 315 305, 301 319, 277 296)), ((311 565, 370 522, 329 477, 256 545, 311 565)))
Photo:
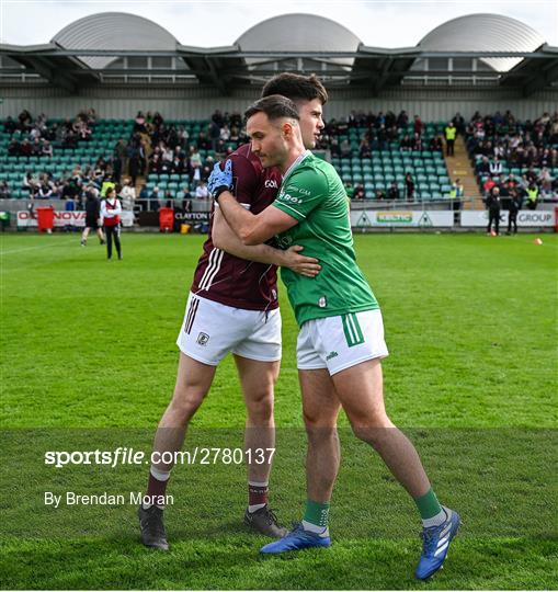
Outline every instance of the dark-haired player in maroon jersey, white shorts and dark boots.
MULTIPOLYGON (((328 94, 315 77, 283 73, 270 80, 262 96, 284 94, 296 102, 305 146, 315 148, 323 128, 321 105, 328 94), (317 109, 319 105, 319 109, 317 109)), ((234 163, 234 193, 243 207, 258 214, 267 207, 282 182, 277 169, 263 169, 250 145, 230 157, 234 163)), ((307 276, 319 273, 318 260, 272 244, 244 246, 227 225, 218 208, 213 212, 209 237, 204 244, 190 291, 184 322, 176 343, 180 361, 171 402, 155 436, 147 494, 138 509, 141 539, 146 546, 169 548, 163 526, 163 501, 174 462, 159 460, 163 453, 182 448, 186 426, 209 391, 215 371, 229 352, 234 354, 244 402, 248 457, 248 509, 244 522, 254 531, 281 537, 267 505, 274 448, 274 386, 281 362, 281 315, 277 301, 277 266, 287 266, 307 276), (264 451, 264 463, 253 456, 264 451)))

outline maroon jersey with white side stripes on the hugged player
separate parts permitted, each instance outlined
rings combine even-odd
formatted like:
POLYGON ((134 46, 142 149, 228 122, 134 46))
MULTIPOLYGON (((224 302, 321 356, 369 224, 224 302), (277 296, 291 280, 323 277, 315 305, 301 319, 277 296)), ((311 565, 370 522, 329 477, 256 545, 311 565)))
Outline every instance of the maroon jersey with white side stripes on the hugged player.
MULTIPOLYGON (((274 202, 282 182, 281 172, 276 168, 264 169, 250 144, 241 146, 227 160, 232 161, 232 192, 239 204, 259 214, 274 202)), ((239 259, 214 247, 213 214, 212 209, 209 236, 197 262, 191 292, 235 308, 277 308, 276 266, 239 259)))

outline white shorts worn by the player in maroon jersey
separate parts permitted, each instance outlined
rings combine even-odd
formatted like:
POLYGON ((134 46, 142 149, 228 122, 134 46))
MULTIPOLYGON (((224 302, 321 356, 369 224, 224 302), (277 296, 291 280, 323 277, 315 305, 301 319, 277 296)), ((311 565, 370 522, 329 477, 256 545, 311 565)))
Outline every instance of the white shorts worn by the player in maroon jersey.
POLYGON ((191 293, 176 345, 210 366, 217 366, 229 352, 276 362, 281 360, 281 312, 278 308, 267 312, 234 308, 191 293))

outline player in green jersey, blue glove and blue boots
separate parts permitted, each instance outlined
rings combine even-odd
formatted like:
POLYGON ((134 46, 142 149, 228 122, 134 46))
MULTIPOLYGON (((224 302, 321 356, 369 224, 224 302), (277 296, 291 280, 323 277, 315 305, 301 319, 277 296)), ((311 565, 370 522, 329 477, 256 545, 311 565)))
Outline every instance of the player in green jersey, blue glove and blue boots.
POLYGON ((430 578, 442 566, 459 516, 440 504, 414 446, 386 413, 380 360, 388 355, 382 314, 356 264, 343 183, 331 164, 304 147, 295 103, 270 95, 247 112, 252 151, 263 167, 278 167, 283 183, 275 202, 258 215, 228 191, 231 164, 216 166, 210 190, 227 223, 246 244, 277 237, 283 248, 301 244, 319 259, 312 278, 282 271, 300 327, 297 365, 308 433, 308 500, 304 520, 264 554, 328 547, 328 512, 339 458, 331 441, 340 406, 357 437, 371 444, 417 503, 423 549, 415 574, 430 578), (323 435, 327 434, 327 435, 323 435))

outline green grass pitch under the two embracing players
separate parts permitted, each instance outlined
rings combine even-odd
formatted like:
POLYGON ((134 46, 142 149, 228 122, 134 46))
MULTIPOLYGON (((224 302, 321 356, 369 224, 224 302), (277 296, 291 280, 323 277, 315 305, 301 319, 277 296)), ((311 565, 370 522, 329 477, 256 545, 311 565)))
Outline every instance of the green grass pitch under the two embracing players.
MULTIPOLYGON (((386 405, 441 500, 464 520, 432 589, 556 589, 557 241, 544 235, 356 236, 390 356, 386 405)), ((122 262, 94 239, 2 239, 2 588, 408 589, 415 510, 342 418, 333 546, 262 558, 241 524, 241 465, 178 467, 172 544, 149 553, 135 508, 45 505, 44 492, 143 491, 146 466, 46 467, 45 451, 148 452, 174 384, 174 345, 203 237, 124 235, 122 262)), ((272 505, 300 517, 305 436, 297 328, 282 294, 272 505)), ((185 448, 241 445, 230 358, 185 448)))

